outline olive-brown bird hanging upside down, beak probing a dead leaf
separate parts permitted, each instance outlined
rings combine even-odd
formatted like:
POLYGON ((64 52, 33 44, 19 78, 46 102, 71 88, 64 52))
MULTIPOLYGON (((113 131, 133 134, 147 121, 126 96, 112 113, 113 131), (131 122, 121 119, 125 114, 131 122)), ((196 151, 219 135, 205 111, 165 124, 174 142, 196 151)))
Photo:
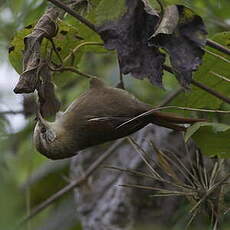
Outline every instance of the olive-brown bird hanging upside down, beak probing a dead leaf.
POLYGON ((45 120, 38 111, 33 142, 46 157, 64 159, 80 150, 126 137, 148 124, 185 131, 184 124, 199 121, 203 120, 154 111, 128 91, 107 86, 93 77, 89 89, 55 121, 45 120))

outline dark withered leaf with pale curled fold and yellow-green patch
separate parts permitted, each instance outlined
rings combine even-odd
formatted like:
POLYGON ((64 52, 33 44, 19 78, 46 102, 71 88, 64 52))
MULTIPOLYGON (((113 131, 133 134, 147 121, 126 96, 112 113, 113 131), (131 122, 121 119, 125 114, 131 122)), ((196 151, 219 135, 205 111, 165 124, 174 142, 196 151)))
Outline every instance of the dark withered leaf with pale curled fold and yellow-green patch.
POLYGON ((173 5, 165 9, 149 44, 162 47, 168 52, 177 79, 187 88, 192 80, 192 72, 201 64, 206 35, 200 16, 185 6, 173 5))

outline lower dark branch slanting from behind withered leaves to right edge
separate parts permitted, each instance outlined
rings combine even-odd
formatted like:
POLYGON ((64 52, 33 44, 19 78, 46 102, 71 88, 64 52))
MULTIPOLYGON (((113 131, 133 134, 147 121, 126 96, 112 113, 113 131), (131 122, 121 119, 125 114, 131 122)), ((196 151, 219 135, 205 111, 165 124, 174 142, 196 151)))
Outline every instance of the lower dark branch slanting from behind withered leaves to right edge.
MULTIPOLYGON (((164 68, 164 70, 166 70, 166 71, 168 71, 169 73, 172 73, 172 74, 173 74, 173 70, 172 70, 171 67, 169 67, 169 66, 167 66, 167 65, 163 65, 163 68, 164 68)), ((198 88, 200 88, 200 89, 202 89, 202 90, 204 90, 204 91, 206 91, 206 92, 208 92, 208 93, 214 95, 215 97, 221 99, 222 101, 224 101, 224 102, 230 104, 230 98, 229 98, 229 97, 224 96, 223 94, 217 92, 216 90, 214 90, 214 89, 212 89, 212 88, 209 88, 208 86, 206 86, 206 85, 204 85, 204 84, 202 84, 202 83, 200 83, 200 82, 198 82, 198 81, 196 81, 196 80, 194 80, 194 79, 192 79, 192 82, 191 82, 191 83, 192 83, 193 85, 195 85, 196 87, 198 87, 198 88)))

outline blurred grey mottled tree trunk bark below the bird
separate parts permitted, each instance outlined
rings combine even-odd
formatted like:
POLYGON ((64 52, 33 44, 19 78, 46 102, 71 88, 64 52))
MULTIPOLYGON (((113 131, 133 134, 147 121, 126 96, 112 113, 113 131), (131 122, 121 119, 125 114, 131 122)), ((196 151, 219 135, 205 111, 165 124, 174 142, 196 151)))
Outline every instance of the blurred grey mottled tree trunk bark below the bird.
MULTIPOLYGON (((148 152, 153 160, 153 168, 157 168, 157 165, 154 163, 156 153, 151 146, 151 140, 162 151, 177 154, 181 160, 188 162, 188 151, 185 150, 184 140, 179 132, 149 125, 132 137, 148 152)), ((90 148, 73 158, 72 177, 83 174, 84 170, 112 144, 90 148)), ((194 152, 195 146, 190 143, 187 149, 194 152)), ((127 139, 124 139, 104 165, 149 173, 146 164, 127 139)), ((77 213, 84 230, 126 230, 143 225, 169 223, 168 220, 182 200, 176 197, 153 198, 150 195, 154 191, 118 186, 122 184, 159 186, 154 180, 100 167, 87 184, 74 191, 77 213)), ((161 187, 165 186, 161 184, 161 187)))

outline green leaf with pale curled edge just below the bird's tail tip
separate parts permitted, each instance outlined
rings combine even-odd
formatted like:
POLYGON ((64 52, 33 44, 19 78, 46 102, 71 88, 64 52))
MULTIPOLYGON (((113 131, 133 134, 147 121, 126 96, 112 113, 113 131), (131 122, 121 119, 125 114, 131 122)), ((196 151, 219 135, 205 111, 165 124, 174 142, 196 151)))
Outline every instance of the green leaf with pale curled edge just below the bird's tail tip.
POLYGON ((198 122, 187 129, 185 141, 190 137, 204 154, 230 158, 230 125, 198 122))

